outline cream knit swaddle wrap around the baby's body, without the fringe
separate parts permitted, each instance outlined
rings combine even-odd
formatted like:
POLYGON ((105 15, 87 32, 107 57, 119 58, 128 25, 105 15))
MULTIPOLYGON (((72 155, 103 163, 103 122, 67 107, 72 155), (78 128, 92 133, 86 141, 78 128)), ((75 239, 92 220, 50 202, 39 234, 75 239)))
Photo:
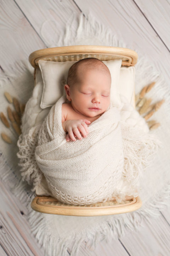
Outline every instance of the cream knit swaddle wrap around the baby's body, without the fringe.
POLYGON ((112 196, 124 165, 118 108, 108 108, 92 122, 86 138, 67 142, 61 123, 65 100, 58 100, 42 124, 35 150, 38 166, 59 201, 91 204, 106 200, 112 196), (46 143, 41 134, 46 134, 46 143))

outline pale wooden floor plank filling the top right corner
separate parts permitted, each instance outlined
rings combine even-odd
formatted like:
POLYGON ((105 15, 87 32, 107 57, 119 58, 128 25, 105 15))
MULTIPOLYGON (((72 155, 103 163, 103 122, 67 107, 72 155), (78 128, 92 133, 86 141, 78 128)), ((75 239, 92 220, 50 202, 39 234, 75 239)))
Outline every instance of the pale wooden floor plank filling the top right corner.
POLYGON ((170 2, 166 0, 135 0, 135 2, 170 50, 170 2))

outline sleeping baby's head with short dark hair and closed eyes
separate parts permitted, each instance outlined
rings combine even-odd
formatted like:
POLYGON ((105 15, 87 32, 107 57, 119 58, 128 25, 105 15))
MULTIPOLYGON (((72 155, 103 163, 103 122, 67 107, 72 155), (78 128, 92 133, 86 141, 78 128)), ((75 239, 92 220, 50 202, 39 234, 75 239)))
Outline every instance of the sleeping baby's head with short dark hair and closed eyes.
POLYGON ((110 71, 96 58, 79 60, 70 67, 64 89, 77 113, 87 117, 98 116, 110 105, 110 71))

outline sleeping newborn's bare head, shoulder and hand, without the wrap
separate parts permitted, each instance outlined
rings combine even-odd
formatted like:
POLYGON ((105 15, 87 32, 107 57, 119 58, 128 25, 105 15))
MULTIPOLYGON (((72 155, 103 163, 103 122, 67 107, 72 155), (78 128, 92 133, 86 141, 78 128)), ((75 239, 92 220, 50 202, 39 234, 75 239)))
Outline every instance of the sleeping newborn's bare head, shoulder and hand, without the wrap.
POLYGON ((66 140, 86 137, 88 125, 99 118, 110 105, 111 74, 96 58, 74 63, 64 86, 70 103, 62 104, 62 127, 66 140))

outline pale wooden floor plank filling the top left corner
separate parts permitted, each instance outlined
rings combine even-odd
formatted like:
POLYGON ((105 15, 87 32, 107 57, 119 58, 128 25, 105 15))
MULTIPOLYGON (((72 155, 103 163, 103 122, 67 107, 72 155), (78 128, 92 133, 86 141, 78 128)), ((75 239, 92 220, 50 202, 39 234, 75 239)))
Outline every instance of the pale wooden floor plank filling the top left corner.
POLYGON ((0 65, 6 71, 9 65, 28 60, 30 53, 46 46, 14 1, 1 0, 0 13, 0 65))

